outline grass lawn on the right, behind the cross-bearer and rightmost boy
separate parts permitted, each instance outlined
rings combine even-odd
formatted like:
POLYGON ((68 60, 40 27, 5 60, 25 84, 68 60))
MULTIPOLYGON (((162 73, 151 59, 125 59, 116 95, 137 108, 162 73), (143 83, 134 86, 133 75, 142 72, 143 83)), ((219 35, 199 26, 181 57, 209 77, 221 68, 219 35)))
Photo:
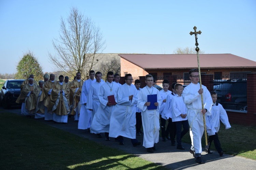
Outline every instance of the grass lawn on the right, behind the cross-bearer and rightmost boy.
MULTIPOLYGON (((161 122, 160 122, 161 124, 161 122)), ((166 121, 166 127, 168 122, 166 121)), ((242 156, 256 160, 256 127, 244 126, 238 124, 230 124, 230 129, 225 129, 223 123, 219 128, 218 137, 221 142, 223 152, 230 155, 242 156)), ((161 136, 161 130, 160 130, 161 136)), ((161 140, 161 138, 160 138, 161 140)), ((182 138, 182 142, 191 143, 189 132, 182 138)), ((205 137, 202 137, 202 149, 204 150, 205 137)), ((215 150, 214 142, 212 142, 211 150, 215 150)), ((203 151, 204 152, 204 151, 203 151)))

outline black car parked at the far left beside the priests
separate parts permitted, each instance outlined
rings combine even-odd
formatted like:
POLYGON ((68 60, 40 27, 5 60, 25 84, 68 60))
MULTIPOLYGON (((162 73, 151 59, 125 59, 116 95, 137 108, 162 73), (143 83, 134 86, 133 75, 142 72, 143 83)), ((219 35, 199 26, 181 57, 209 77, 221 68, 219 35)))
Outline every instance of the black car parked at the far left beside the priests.
POLYGON ((24 80, 6 80, 1 88, 0 93, 0 104, 3 108, 8 108, 10 106, 19 106, 21 104, 15 101, 20 95, 20 85, 24 80))

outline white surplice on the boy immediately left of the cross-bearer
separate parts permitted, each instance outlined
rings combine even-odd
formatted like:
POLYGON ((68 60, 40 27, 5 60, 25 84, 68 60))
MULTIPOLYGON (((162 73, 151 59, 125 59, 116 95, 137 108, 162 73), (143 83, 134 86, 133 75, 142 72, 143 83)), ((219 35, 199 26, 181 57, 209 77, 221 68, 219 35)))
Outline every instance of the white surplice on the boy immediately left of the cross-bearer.
MULTIPOLYGON (((173 96, 173 95, 172 95, 173 96)), ((187 108, 181 96, 175 95, 172 97, 172 122, 184 121, 187 120, 187 116, 185 118, 181 117, 181 114, 185 115, 187 112, 187 108)))

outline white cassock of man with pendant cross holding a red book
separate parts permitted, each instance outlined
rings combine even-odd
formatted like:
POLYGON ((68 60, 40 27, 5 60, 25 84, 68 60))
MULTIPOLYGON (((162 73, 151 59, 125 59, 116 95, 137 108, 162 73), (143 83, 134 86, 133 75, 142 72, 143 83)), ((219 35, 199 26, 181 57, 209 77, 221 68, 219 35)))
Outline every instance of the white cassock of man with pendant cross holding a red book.
POLYGON ((100 107, 94 115, 93 122, 91 123, 90 130, 96 133, 109 132, 110 117, 115 110, 116 105, 107 106, 108 96, 114 95, 115 102, 118 85, 114 82, 109 83, 108 81, 102 86, 98 92, 98 98, 100 101, 100 107))

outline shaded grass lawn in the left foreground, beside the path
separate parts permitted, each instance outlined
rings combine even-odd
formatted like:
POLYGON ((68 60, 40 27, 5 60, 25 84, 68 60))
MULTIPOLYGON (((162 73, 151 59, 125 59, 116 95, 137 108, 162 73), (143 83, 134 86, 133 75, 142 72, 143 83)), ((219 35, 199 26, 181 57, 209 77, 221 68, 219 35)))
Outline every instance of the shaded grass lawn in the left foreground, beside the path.
POLYGON ((165 169, 16 114, 0 113, 0 169, 165 169))

